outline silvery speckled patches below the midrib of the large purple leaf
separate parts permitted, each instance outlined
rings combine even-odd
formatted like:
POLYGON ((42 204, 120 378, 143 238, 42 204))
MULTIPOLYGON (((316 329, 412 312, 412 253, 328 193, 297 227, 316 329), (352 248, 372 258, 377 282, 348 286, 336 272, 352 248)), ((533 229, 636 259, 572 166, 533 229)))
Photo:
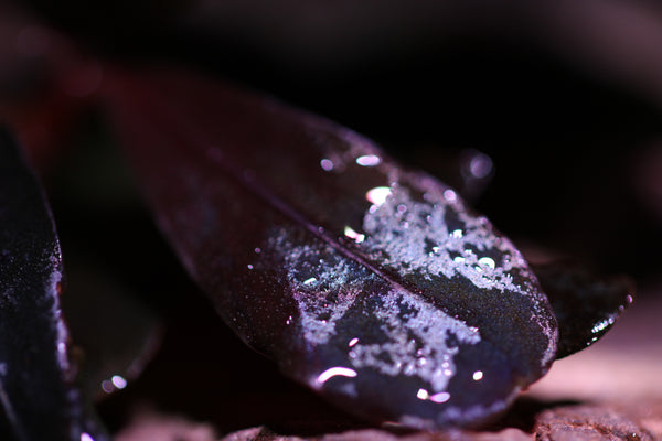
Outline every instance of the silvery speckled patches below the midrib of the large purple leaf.
POLYGON ((346 366, 324 370, 317 377, 318 384, 320 378, 325 383, 333 376, 354 376, 349 374, 371 368, 393 377, 418 377, 429 385, 431 395, 426 399, 430 396, 439 399, 435 394, 446 390, 456 374, 453 356, 458 346, 480 342, 478 329, 403 288, 392 287, 386 292, 367 290, 366 282, 376 276, 332 249, 321 252, 307 245, 293 245, 285 232, 273 239, 273 245, 282 251, 298 304, 299 325, 311 347, 329 344, 350 310, 376 299, 371 303, 375 306, 370 314, 378 323, 378 343, 349 338, 346 366))

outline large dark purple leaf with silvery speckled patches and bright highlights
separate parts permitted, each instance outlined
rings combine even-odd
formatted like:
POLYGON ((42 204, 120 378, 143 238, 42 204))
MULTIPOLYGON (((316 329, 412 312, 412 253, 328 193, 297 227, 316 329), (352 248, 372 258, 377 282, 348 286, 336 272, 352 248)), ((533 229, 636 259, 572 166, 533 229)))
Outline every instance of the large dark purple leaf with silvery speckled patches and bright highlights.
POLYGON ((433 428, 483 423, 547 370, 556 322, 535 277, 451 189, 191 75, 117 74, 106 97, 161 229, 286 375, 349 412, 433 428))

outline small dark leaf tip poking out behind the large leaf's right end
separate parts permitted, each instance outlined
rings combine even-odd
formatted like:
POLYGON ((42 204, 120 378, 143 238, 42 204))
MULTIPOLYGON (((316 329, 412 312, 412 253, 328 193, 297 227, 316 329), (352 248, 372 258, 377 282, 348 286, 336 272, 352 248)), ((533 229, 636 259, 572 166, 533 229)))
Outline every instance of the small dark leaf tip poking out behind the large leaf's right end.
POLYGON ((557 358, 585 349, 611 329, 632 303, 633 282, 600 278, 576 262, 532 265, 558 322, 557 358))

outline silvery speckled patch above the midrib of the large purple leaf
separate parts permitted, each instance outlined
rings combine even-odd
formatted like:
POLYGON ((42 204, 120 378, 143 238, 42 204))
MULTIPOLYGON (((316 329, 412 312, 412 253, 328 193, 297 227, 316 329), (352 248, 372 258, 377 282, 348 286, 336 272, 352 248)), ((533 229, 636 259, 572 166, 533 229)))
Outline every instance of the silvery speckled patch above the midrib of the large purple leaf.
POLYGON ((508 239, 498 237, 484 217, 473 217, 459 207, 455 193, 446 192, 450 201, 429 196, 415 201, 407 189, 392 185, 387 194, 384 191, 386 197, 375 198, 377 189, 366 196, 373 205, 363 218, 369 252, 385 256, 384 262, 398 271, 427 279, 460 275, 481 289, 523 293, 510 273, 525 268, 520 252, 508 239), (458 223, 452 229, 446 222, 449 211, 458 223))

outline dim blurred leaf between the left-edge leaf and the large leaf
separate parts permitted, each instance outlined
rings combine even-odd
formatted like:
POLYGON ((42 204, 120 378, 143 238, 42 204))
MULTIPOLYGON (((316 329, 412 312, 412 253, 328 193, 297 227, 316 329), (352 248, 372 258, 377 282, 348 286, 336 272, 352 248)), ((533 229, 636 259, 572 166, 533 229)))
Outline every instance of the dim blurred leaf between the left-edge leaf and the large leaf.
POLYGON ((76 347, 84 353, 81 387, 104 398, 136 379, 161 343, 156 313, 90 258, 67 259, 62 308, 76 347))

